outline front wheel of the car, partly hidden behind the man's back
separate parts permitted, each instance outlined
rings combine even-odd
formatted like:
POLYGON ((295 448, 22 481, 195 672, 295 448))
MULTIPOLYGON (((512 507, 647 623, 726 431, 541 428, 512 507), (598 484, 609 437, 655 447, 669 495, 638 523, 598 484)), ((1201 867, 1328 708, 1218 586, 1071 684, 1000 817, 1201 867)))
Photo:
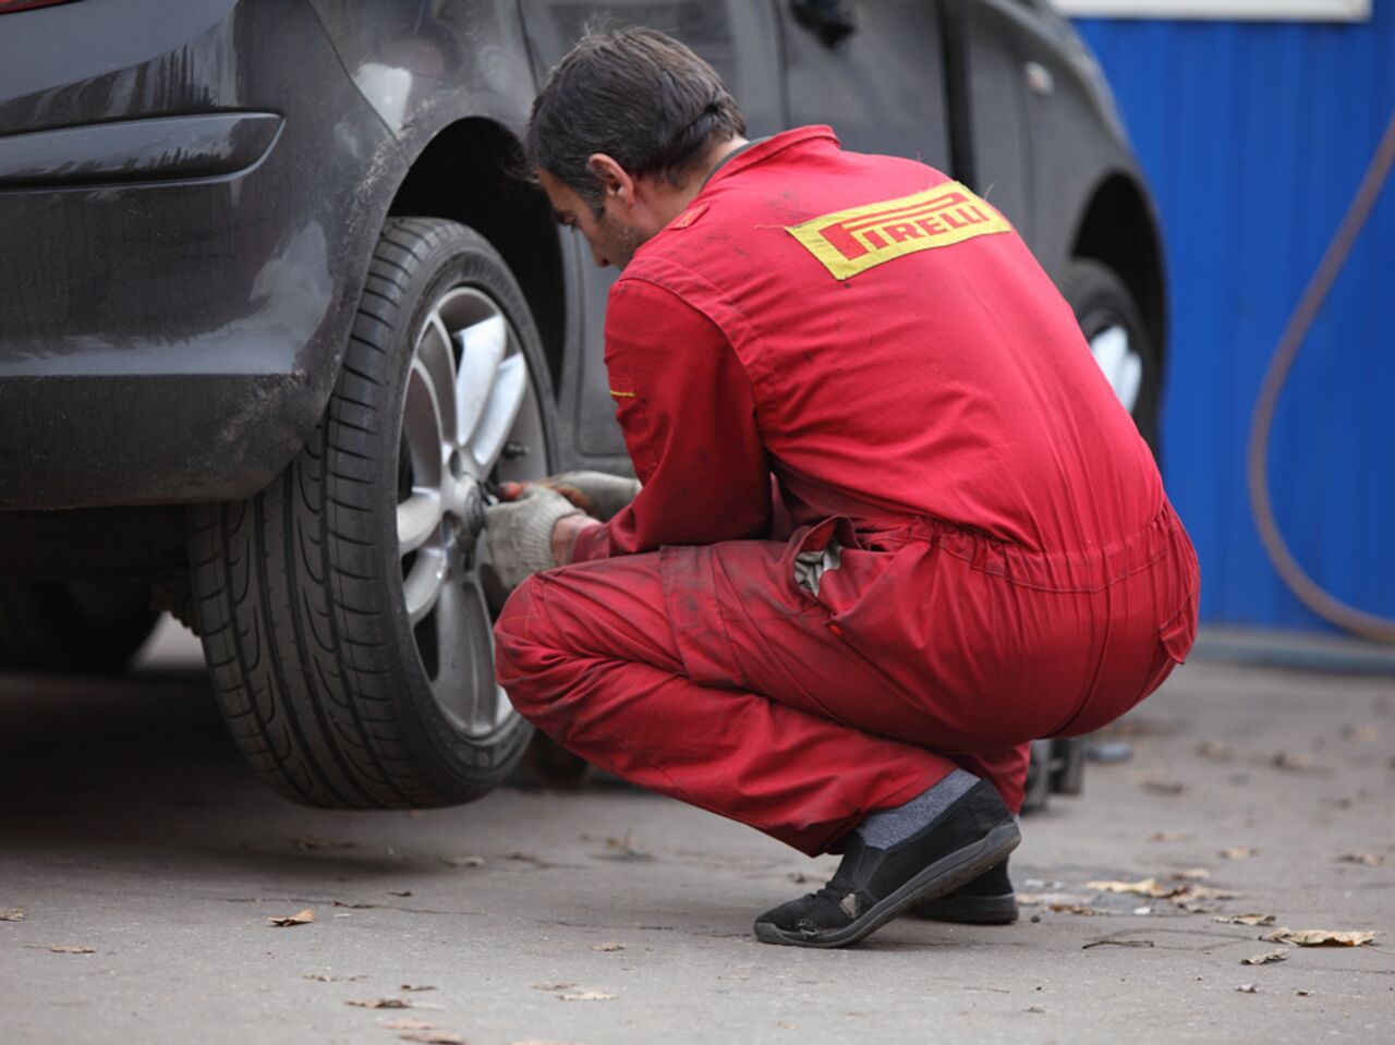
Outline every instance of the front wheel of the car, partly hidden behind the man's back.
POLYGON ((1158 458, 1162 366, 1137 301, 1113 269, 1091 258, 1071 261, 1057 286, 1110 388, 1158 458))

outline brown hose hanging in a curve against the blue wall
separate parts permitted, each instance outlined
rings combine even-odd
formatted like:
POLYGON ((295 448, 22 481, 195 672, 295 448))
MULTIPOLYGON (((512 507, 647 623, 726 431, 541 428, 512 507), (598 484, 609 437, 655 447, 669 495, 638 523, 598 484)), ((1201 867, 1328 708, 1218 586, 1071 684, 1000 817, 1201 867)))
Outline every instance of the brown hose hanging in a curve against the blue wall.
POLYGON ((1313 319, 1317 318, 1322 301, 1327 300, 1328 290, 1332 289, 1332 283, 1342 271, 1342 265, 1346 264, 1346 257, 1352 253, 1352 244, 1366 225, 1366 219, 1370 218, 1392 165, 1395 165, 1395 112, 1391 113, 1389 123, 1385 126, 1385 134, 1381 135, 1375 155, 1371 158, 1371 163, 1362 177, 1362 184, 1356 190, 1356 197, 1352 200, 1342 225, 1328 244, 1317 272, 1303 292, 1303 297, 1299 299, 1297 308, 1289 317, 1289 322, 1283 328, 1283 336, 1279 338, 1279 345, 1274 350, 1274 359, 1269 360, 1269 368, 1264 374, 1264 384, 1260 386, 1260 396, 1254 402, 1247 459, 1250 509, 1254 512, 1254 522, 1260 527, 1260 539, 1264 541, 1264 550, 1268 552, 1269 561, 1279 572, 1283 583, 1289 586, 1289 590, 1299 597, 1303 606, 1322 619, 1356 635, 1389 643, 1395 643, 1395 619, 1368 614, 1364 610, 1357 610, 1343 603, 1313 580, 1293 558, 1293 552, 1289 551, 1289 546, 1285 543, 1283 534, 1279 533, 1279 526, 1274 519, 1267 466, 1269 430, 1274 426, 1274 409, 1278 406, 1283 382, 1288 379, 1289 370, 1299 354, 1303 339, 1307 338, 1313 319))

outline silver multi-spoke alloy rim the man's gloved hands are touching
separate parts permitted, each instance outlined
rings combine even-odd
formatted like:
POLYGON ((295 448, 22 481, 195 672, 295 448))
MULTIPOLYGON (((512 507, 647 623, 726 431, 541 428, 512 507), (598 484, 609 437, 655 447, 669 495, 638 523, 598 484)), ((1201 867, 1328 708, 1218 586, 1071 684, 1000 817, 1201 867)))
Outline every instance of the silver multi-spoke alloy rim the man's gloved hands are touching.
POLYGON ((494 681, 502 603, 484 541, 485 483, 547 473, 527 356, 484 290, 456 286, 417 332, 398 455, 402 601, 431 696, 469 737, 516 716, 494 681))

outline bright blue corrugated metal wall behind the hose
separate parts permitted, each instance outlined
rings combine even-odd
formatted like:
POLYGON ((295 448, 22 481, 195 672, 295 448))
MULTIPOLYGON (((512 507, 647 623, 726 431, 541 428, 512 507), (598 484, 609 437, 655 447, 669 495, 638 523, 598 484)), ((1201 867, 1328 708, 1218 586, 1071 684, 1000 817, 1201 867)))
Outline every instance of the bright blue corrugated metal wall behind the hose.
MULTIPOLYGON (((1162 211, 1168 488, 1212 622, 1322 628, 1264 557, 1244 483, 1265 364, 1395 110, 1395 0, 1357 25, 1081 21, 1162 211)), ((1269 483, 1300 564, 1395 617, 1395 177, 1279 400, 1269 483)))

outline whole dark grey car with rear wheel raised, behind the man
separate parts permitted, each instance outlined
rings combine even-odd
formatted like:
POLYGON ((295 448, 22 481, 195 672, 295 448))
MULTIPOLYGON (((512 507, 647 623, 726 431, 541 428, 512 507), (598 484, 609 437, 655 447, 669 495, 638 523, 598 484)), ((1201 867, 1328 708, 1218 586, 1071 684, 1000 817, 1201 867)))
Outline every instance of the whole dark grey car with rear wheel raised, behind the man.
POLYGON ((167 610, 296 801, 509 773, 490 484, 628 469, 610 278, 512 174, 597 14, 689 43, 753 135, 985 194, 1156 446, 1156 219, 1041 0, 0 0, 0 667, 119 668, 167 610))

